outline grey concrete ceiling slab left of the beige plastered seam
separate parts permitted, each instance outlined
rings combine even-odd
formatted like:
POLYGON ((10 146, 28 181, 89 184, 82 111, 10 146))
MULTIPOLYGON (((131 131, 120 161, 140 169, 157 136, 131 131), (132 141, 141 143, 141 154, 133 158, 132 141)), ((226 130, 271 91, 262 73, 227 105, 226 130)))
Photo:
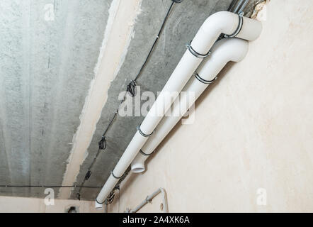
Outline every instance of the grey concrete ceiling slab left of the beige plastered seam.
MULTIPOLYGON (((62 184, 110 1, 0 2, 0 184, 62 184), (53 4, 55 20, 45 20, 53 4)), ((45 196, 42 189, 1 195, 45 196)))

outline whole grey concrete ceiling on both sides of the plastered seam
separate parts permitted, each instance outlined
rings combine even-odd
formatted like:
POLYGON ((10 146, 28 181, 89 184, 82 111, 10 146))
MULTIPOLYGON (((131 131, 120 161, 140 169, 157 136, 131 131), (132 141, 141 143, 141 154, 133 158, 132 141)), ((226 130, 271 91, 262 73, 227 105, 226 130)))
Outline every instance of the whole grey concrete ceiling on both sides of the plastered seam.
MULTIPOLYGON (((69 157, 75 155, 74 138, 83 121, 91 81, 97 74, 95 67, 106 39, 103 34, 108 35, 113 1, 117 0, 0 1, 0 184, 84 181, 98 152, 98 141, 120 105, 118 94, 139 72, 171 4, 170 0, 138 0, 140 11, 132 25, 127 51, 107 84, 108 90, 103 90, 108 95, 93 133, 89 133, 90 144, 86 143, 88 149, 83 150, 81 165, 69 174, 69 157), (51 15, 48 20, 45 17, 47 4, 53 6, 54 20, 49 19, 51 15), (67 175, 71 176, 64 177, 67 175)), ((186 43, 203 21, 215 11, 227 10, 231 1, 184 0, 174 6, 137 80, 141 92, 161 91, 186 50, 186 43)), ((106 70, 101 74, 108 77, 106 70)), ((98 155, 86 186, 103 185, 142 119, 115 118, 106 134, 107 148, 98 155)), ((76 192, 78 189, 65 197, 74 198, 76 192)), ((81 199, 93 200, 98 192, 81 189, 81 199)), ((45 196, 44 190, 35 188, 0 188, 0 195, 45 196)))

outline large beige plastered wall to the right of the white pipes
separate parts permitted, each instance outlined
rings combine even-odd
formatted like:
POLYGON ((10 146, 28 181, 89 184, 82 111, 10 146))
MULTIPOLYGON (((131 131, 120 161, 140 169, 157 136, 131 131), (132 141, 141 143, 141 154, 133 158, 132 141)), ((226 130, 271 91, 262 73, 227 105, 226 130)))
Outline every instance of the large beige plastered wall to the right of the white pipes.
POLYGON ((195 123, 178 123, 110 211, 158 187, 171 212, 313 211, 312 9, 312 0, 272 0, 244 61, 227 65, 196 102, 195 123))

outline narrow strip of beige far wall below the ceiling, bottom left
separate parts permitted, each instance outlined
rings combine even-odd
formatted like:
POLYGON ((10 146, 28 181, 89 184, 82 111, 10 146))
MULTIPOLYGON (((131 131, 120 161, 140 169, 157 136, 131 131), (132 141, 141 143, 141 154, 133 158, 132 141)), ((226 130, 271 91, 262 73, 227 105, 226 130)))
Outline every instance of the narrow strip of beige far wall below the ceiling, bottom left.
POLYGON ((70 206, 78 207, 79 213, 103 212, 94 209, 93 201, 55 199, 55 205, 46 206, 44 199, 0 196, 0 213, 64 213, 70 206))

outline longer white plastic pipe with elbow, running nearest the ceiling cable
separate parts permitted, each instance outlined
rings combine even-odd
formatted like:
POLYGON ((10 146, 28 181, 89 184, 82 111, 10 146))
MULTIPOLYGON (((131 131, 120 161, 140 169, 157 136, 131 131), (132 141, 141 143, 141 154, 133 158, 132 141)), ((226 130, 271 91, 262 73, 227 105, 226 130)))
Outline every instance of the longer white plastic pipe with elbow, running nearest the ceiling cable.
POLYGON ((188 79, 198 68, 203 58, 207 56, 210 48, 221 33, 229 36, 237 36, 245 40, 255 40, 261 33, 261 29, 262 26, 259 21, 242 17, 228 11, 220 11, 207 18, 190 43, 188 50, 186 50, 180 62, 178 62, 178 65, 171 74, 168 82, 164 85, 157 100, 154 101, 147 116, 144 118, 144 121, 142 121, 140 129, 135 133, 130 144, 118 161, 118 164, 103 185, 101 192, 96 198, 97 203, 102 204, 115 187, 115 184, 118 183, 118 179, 123 177, 127 167, 137 153, 139 153, 149 135, 152 135, 173 100, 176 99, 176 96, 178 96, 181 89, 186 85, 188 79), (171 98, 169 98, 169 94, 173 94, 171 98))

